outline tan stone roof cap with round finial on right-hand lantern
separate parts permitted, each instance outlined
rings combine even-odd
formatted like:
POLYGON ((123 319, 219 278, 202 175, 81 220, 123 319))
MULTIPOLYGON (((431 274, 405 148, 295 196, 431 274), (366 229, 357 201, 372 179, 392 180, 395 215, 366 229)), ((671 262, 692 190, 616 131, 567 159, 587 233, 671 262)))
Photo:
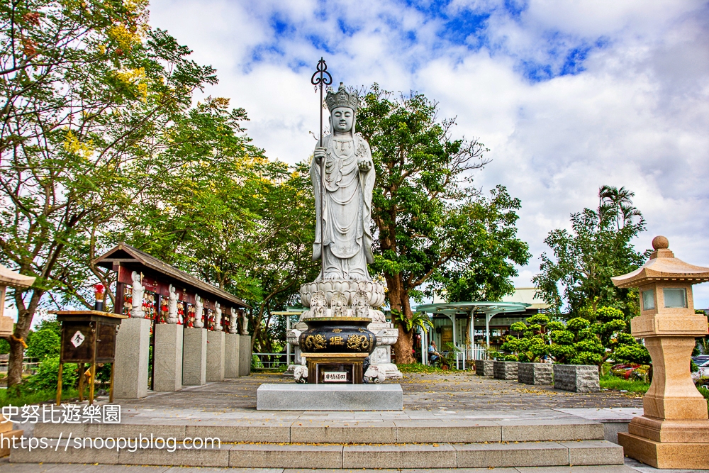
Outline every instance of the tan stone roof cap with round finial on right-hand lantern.
POLYGON ((618 287, 637 287, 646 282, 686 281, 698 284, 709 281, 709 268, 694 266, 674 257, 669 250, 669 241, 664 236, 652 240, 654 251, 650 259, 633 272, 610 278, 618 287))

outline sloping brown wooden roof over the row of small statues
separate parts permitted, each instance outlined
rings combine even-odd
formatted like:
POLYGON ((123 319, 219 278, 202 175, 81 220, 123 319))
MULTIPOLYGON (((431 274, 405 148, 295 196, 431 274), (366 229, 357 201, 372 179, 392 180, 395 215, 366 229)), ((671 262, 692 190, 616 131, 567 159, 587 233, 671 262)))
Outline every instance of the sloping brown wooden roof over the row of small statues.
MULTIPOLYGON (((251 308, 244 301, 229 294, 223 289, 203 282, 201 279, 188 274, 174 266, 168 265, 156 257, 148 255, 146 252, 138 250, 126 243, 118 243, 108 252, 104 253, 94 260, 94 265, 105 267, 106 269, 114 269, 114 265, 120 263, 122 266, 133 269, 134 271, 147 268, 152 272, 162 274, 165 282, 178 283, 180 286, 189 287, 192 291, 198 294, 210 294, 213 299, 227 301, 239 307, 251 308)), ((176 284, 177 285, 177 284, 176 284)))

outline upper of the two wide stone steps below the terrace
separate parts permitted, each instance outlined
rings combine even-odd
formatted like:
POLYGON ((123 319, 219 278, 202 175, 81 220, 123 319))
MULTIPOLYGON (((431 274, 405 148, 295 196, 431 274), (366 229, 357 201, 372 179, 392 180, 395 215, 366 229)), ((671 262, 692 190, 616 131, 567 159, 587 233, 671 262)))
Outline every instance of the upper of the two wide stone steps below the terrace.
POLYGON ((122 423, 35 425, 33 435, 45 438, 217 437, 222 442, 259 443, 479 443, 603 440, 603 424, 581 418, 474 421, 238 421, 233 423, 122 423))

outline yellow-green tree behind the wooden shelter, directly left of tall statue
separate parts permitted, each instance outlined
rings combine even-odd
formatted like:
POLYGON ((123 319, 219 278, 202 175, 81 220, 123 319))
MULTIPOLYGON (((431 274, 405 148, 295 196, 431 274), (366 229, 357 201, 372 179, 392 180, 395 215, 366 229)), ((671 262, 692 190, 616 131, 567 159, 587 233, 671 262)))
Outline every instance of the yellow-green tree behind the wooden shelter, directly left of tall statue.
POLYGON ((271 352, 282 325, 272 312, 317 274, 314 204, 303 169, 267 160, 246 120, 210 98, 177 121, 154 185, 125 213, 125 241, 238 294, 254 307, 252 343, 271 352))

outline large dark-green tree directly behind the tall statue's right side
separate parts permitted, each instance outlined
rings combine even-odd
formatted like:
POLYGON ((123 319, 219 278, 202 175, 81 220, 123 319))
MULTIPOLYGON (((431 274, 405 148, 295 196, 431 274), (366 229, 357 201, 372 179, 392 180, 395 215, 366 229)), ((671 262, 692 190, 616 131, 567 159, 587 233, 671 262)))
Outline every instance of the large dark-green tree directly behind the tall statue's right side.
MULTIPOLYGON (((489 197, 471 186, 487 148, 453 139, 454 120, 439 120, 422 94, 394 98, 377 84, 356 126, 372 147, 372 269, 384 274, 391 311, 411 319, 410 299, 434 290, 487 300, 512 291, 514 264, 530 255, 516 238, 520 201, 501 186, 489 197)), ((398 328, 396 361, 411 363, 412 333, 402 321, 398 328)))

